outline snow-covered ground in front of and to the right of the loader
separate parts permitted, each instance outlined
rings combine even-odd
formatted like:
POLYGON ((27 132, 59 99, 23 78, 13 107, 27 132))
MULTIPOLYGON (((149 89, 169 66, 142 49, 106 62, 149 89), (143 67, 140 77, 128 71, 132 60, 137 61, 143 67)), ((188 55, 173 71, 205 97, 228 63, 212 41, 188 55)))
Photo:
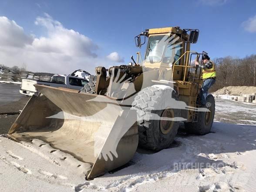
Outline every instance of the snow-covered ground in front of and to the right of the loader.
POLYGON ((84 178, 90 165, 72 155, 39 139, 19 143, 2 135, 1 191, 255 192, 255 115, 253 105, 216 99, 211 133, 186 135, 181 129, 171 148, 138 149, 123 168, 91 181, 84 178))

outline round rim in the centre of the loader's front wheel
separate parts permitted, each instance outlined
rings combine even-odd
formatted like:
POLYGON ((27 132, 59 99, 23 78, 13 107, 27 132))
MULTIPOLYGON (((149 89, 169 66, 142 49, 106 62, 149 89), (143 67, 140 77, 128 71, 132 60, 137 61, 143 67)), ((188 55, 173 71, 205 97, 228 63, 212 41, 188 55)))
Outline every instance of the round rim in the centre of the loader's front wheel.
POLYGON ((162 112, 160 119, 160 130, 166 135, 172 130, 174 121, 166 120, 165 118, 174 118, 174 111, 172 109, 165 109, 162 112))

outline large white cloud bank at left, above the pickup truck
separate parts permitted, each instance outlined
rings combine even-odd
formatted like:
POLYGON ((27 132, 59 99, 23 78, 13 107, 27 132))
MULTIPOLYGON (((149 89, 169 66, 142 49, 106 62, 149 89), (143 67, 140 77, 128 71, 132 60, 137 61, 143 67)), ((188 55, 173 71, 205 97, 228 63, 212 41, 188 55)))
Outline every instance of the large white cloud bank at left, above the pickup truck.
POLYGON ((0 17, 0 63, 7 66, 27 64, 30 71, 70 74, 81 68, 94 74, 94 68, 111 62, 98 57, 97 44, 75 30, 65 28, 48 14, 35 24, 47 30, 46 37, 27 35, 7 17, 0 17))

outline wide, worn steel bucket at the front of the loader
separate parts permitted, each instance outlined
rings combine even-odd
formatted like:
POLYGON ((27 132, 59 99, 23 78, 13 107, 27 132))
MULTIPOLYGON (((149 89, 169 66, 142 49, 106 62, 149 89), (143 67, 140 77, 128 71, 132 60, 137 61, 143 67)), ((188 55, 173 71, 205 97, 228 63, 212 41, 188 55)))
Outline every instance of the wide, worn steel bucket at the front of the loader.
POLYGON ((136 112, 103 95, 35 85, 32 96, 8 136, 43 140, 51 147, 91 164, 87 179, 127 163, 138 145, 136 112))

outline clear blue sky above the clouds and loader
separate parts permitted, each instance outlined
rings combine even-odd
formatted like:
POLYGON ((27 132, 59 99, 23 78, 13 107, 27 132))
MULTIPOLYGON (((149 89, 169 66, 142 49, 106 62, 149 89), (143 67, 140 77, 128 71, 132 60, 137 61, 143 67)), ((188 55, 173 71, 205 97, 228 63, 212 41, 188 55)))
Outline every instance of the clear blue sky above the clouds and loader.
POLYGON ((44 25, 36 25, 35 20, 47 13, 64 28, 89 37, 98 47, 100 64, 112 52, 128 63, 138 51, 135 35, 144 29, 169 26, 199 29, 199 40, 192 50, 204 50, 212 58, 255 54, 255 7, 256 1, 250 0, 1 0, 0 16, 14 20, 25 34, 40 38, 47 37, 49 31, 44 25))

